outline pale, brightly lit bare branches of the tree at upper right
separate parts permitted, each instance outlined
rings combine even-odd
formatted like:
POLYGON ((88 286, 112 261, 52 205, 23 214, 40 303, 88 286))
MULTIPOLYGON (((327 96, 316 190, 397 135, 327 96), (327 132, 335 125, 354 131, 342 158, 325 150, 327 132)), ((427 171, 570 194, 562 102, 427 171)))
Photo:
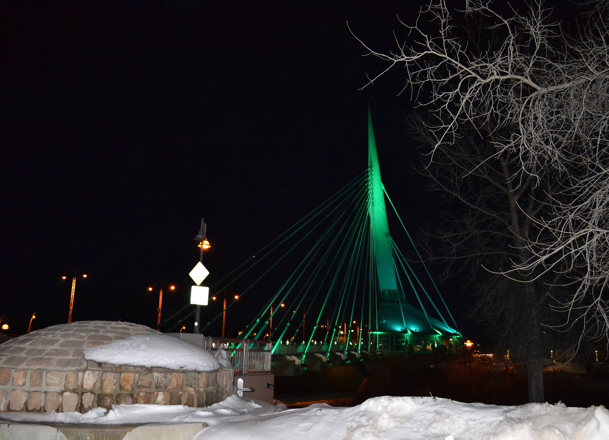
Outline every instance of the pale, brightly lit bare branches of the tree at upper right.
MULTIPOLYGON (((563 327, 606 338, 609 29, 607 10, 601 2, 592 5, 569 36, 541 3, 526 14, 506 15, 480 0, 465 0, 460 11, 434 0, 412 26, 402 23, 410 43, 396 35, 393 52, 361 43, 389 63, 370 83, 394 66, 405 68, 406 87, 430 116, 429 163, 465 165, 459 140, 471 137, 472 129, 490 142, 492 148, 466 154, 467 168, 454 174, 456 185, 449 188, 458 197, 464 185, 459 177, 490 172, 485 167, 491 161, 499 163, 493 171, 502 173, 496 182, 511 188, 512 217, 488 212, 487 220, 495 216, 504 223, 516 240, 515 255, 487 269, 523 283, 524 291, 544 286, 546 294, 524 296, 530 308, 553 296, 550 286, 558 279, 571 285, 570 296, 553 296, 555 308, 565 312, 563 327), (464 36, 458 25, 472 19, 493 38, 473 44, 471 34, 464 36)), ((530 399, 539 400, 532 392, 530 399)))

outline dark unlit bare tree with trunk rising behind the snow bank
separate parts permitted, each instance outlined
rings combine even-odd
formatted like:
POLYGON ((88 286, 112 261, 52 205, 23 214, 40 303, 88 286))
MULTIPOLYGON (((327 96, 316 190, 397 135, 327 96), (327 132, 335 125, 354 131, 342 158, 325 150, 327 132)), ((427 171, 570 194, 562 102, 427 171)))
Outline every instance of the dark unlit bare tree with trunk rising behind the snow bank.
MULTIPOLYGON (((446 275, 470 274, 468 289, 478 298, 473 313, 496 330, 499 347, 526 367, 529 400, 543 402, 543 358, 549 358, 557 344, 547 340, 542 322, 552 322, 547 303, 563 292, 557 280, 550 279, 552 274, 535 280, 540 275, 536 271, 519 271, 510 279, 483 268, 510 268, 514 261, 530 258, 526 238, 541 236, 532 218, 547 211, 545 194, 560 183, 529 177, 513 184, 510 176, 518 162, 510 152, 495 154, 495 133, 488 124, 468 125, 469 130, 463 124, 450 151, 438 149, 433 163, 421 170, 452 205, 440 225, 426 234, 435 239, 430 254, 446 263, 446 275), (466 265, 470 270, 462 271, 466 265)), ((419 119, 414 126, 418 141, 429 144, 433 133, 426 124, 419 119)))

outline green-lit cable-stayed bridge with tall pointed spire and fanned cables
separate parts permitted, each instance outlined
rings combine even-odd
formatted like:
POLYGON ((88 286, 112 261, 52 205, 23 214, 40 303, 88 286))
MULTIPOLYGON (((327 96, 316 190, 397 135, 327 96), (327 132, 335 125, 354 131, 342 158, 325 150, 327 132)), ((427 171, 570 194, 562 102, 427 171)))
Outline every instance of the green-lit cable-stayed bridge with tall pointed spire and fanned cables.
MULTIPOLYGON (((309 353, 329 359, 333 353, 450 352, 461 345, 456 322, 382 185, 369 110, 368 167, 211 291, 239 292, 239 308, 255 311, 240 338, 272 341, 272 353, 294 352, 301 360, 309 353), (410 260, 389 233, 385 198, 410 260)), ((207 325, 203 318, 202 332, 222 314, 207 325)))

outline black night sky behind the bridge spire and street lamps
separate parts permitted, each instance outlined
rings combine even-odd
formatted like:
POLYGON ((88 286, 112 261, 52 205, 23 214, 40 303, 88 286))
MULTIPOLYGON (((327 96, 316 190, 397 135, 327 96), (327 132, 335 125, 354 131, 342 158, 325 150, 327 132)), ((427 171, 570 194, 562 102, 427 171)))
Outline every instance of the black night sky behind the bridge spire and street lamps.
MULTIPOLYGON (((208 285, 367 166, 411 232, 437 201, 409 170, 392 48, 417 2, 3 2, 0 314, 12 333, 73 321, 155 326, 189 302, 202 217, 208 285), (382 4, 382 5, 379 5, 382 4)), ((441 286, 442 288, 442 286, 441 286)), ((467 327, 462 292, 444 288, 467 327), (448 289, 449 291, 446 291, 448 289)), ((188 331, 191 331, 189 328, 188 331)))

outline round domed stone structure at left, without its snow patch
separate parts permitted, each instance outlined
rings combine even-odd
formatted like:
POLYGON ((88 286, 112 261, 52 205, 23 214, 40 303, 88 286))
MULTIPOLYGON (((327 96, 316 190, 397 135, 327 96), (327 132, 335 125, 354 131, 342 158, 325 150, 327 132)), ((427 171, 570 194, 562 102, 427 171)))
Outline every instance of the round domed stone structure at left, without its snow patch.
POLYGON ((137 335, 160 333, 130 322, 80 321, 0 344, 0 411, 86 412, 115 403, 207 406, 232 394, 232 369, 115 365, 83 355, 137 335))

